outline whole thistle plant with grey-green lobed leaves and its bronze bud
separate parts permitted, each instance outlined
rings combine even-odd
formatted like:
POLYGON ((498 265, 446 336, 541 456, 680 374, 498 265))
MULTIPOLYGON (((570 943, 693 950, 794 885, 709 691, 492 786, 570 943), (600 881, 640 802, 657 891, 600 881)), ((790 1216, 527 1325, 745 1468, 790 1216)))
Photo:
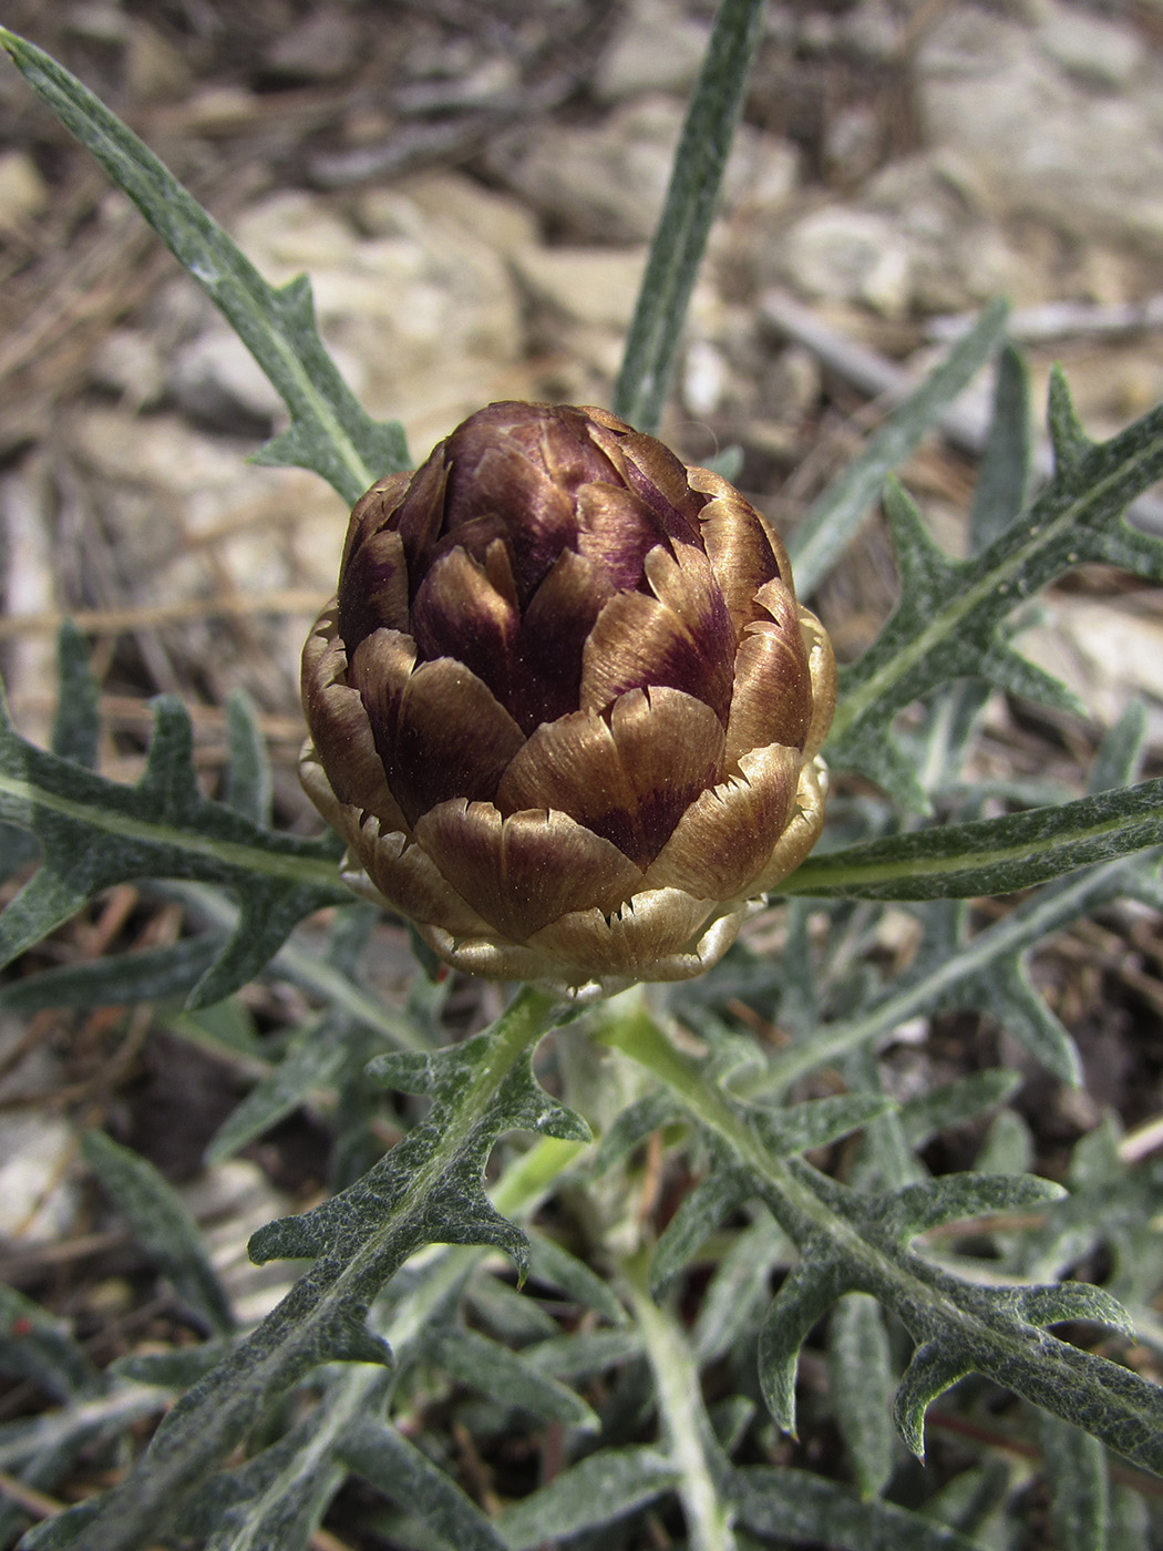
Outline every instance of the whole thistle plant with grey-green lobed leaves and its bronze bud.
POLYGON ((174 1027, 206 1042, 248 982, 290 982, 316 1013, 243 1042, 253 1086, 209 1160, 304 1103, 330 1114, 338 1160, 329 1199, 251 1239, 256 1261, 309 1266, 240 1328, 157 1169, 85 1137, 202 1340, 99 1371, 64 1321, 0 1292, 0 1365, 54 1401, 0 1425, 19 1484, 3 1534, 104 1473, 26 1551, 309 1546, 349 1478, 375 1494, 366 1543, 408 1551, 986 1551, 1027 1534, 1031 1481, 1068 1551, 1158 1543, 1157 1160, 1112 1118, 1062 1180, 1031 1174, 1020 1073, 896 1101, 884 1050, 910 1021, 977 1010, 1079 1083, 1030 954, 1089 912, 1163 904, 1163 783, 1135 783, 1134 707, 1084 796, 965 780, 992 687, 1078 709, 1022 658, 1014 608, 1082 561, 1163 579, 1163 544, 1124 516, 1163 478, 1163 409, 1098 445, 1056 377, 1054 472, 1031 496, 1025 374, 986 309, 816 503, 791 563, 720 473, 656 440, 760 17, 720 9, 616 413, 482 408, 416 472, 330 363, 309 282, 267 285, 124 124, 0 33, 282 392, 290 427, 259 456, 355 503, 302 678, 302 779, 338 838, 271 827, 242 701, 226 800, 200 793, 175 700, 135 786, 98 774, 74 630, 53 748, 0 723, 5 859, 33 869, 0 917, 5 962, 126 879, 189 912, 172 946, 12 976, 0 1005, 181 1003, 174 1027), (954 558, 890 475, 991 354, 954 558), (844 563, 878 493, 901 597, 837 689, 795 586, 844 563), (983 816, 997 796, 1011 811, 983 816), (968 906, 1019 892, 989 924, 968 906), (764 901, 769 929, 738 935, 764 901), (920 941, 896 977, 889 901, 920 941), (402 1005, 363 977, 383 909, 414 926, 402 1005), (323 946, 298 931, 319 910, 323 946), (448 966, 523 986, 457 1038, 448 966), (969 1124, 975 1166, 932 1173, 929 1143, 969 1124), (989 1447, 930 1449, 921 1472, 930 1407, 989 1447), (457 1441, 482 1458, 506 1436, 537 1466, 488 1491, 457 1472, 457 1441))

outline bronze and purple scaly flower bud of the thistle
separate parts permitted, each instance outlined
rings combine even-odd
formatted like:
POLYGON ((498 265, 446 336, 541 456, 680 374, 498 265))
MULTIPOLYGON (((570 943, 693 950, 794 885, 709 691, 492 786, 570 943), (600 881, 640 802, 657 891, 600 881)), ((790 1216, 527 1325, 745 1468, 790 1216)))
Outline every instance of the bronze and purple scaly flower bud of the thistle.
POLYGON ((352 512, 302 782, 450 965, 611 991, 707 969, 803 861, 834 700, 726 479, 603 409, 495 403, 352 512))

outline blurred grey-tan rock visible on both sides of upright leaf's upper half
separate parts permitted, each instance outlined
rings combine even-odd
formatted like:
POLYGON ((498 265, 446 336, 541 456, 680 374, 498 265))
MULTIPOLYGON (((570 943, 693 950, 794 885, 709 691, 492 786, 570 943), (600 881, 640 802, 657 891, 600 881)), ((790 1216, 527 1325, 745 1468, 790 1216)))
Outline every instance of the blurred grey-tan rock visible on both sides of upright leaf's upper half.
MULTIPOLYGON (((597 126, 550 126, 495 147, 496 172, 568 239, 648 242, 670 183, 685 107, 651 95, 597 126)), ((741 124, 723 180, 723 209, 778 208, 792 194, 799 154, 788 141, 741 124)))

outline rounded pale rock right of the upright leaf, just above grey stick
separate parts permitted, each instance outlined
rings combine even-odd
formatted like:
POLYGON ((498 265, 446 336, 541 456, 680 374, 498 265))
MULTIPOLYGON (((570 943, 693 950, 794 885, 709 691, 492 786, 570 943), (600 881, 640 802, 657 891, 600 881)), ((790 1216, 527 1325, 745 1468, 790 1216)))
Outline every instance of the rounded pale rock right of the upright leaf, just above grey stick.
POLYGON ((845 205, 811 211, 786 231, 772 261, 813 301, 861 302, 890 318, 909 307, 909 250, 889 216, 845 205))

